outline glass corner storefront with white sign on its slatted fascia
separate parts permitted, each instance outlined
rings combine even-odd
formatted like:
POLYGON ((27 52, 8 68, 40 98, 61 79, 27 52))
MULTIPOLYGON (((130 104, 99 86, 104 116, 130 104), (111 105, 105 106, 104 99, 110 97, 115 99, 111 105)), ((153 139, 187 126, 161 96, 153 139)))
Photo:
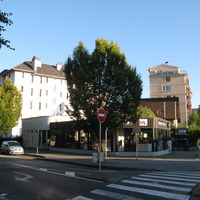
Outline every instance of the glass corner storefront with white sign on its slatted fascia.
POLYGON ((168 153, 171 137, 170 122, 161 118, 141 118, 136 123, 124 123, 116 133, 115 156, 158 156, 168 153))

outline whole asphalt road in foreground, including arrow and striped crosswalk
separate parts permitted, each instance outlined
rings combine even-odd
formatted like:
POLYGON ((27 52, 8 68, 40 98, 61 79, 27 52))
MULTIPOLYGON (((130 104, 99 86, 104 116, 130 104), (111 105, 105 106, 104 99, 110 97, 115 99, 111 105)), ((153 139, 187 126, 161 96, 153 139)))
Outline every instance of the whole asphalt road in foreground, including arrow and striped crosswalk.
MULTIPOLYGON (((140 172, 103 170, 123 174, 115 181, 88 175, 96 168, 48 162, 28 156, 0 155, 0 194, 11 200, 199 199, 190 195, 200 183, 200 172, 140 172)), ((0 198, 1 199, 1 198, 0 198)))

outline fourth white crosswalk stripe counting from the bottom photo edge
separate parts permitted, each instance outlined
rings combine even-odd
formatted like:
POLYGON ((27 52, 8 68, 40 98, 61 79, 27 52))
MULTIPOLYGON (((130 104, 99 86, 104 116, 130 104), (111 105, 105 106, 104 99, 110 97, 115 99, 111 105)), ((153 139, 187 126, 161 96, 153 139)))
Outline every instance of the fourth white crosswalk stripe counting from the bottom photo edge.
POLYGON ((168 189, 168 190, 177 190, 177 191, 181 191, 181 192, 190 192, 192 190, 192 188, 175 187, 175 186, 170 186, 170 185, 162 185, 162 184, 158 184, 158 183, 155 183, 155 182, 147 183, 147 182, 132 181, 132 180, 122 180, 121 182, 122 183, 149 186, 149 187, 162 188, 162 189, 168 189))

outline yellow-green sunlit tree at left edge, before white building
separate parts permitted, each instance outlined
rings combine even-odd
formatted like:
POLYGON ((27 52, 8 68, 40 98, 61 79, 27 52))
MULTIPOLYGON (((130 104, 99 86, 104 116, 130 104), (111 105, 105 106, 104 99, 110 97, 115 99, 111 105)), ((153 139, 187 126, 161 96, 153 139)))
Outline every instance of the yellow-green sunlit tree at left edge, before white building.
POLYGON ((21 92, 6 79, 0 84, 0 133, 10 131, 19 120, 22 110, 21 92))

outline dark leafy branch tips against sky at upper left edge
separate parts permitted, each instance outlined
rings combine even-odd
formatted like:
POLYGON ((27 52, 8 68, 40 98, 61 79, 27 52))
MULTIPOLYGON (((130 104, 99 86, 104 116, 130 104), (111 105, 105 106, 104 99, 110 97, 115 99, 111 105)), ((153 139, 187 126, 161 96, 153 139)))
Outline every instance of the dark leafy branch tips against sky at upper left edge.
POLYGON ((0 10, 0 23, 2 24, 0 25, 0 49, 2 46, 6 46, 7 48, 14 50, 14 48, 9 45, 10 41, 2 37, 2 32, 6 31, 5 25, 11 26, 13 24, 13 22, 9 19, 11 15, 11 12, 6 13, 0 10))

